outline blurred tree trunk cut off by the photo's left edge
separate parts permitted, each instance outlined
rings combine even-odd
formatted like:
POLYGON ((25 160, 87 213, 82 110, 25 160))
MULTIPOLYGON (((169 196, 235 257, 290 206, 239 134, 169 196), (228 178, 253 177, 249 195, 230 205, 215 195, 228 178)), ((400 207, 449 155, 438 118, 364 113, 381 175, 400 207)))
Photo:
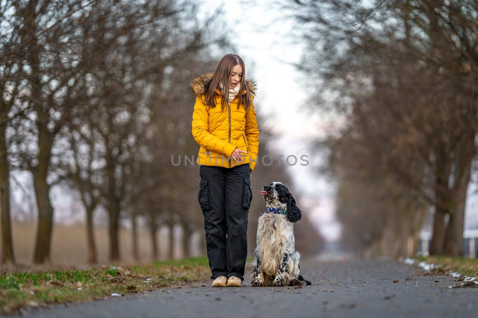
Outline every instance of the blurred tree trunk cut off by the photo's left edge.
POLYGON ((1 220, 1 262, 15 263, 13 243, 11 239, 10 219, 10 168, 7 160, 5 140, 6 118, 0 119, 0 220, 1 220))

